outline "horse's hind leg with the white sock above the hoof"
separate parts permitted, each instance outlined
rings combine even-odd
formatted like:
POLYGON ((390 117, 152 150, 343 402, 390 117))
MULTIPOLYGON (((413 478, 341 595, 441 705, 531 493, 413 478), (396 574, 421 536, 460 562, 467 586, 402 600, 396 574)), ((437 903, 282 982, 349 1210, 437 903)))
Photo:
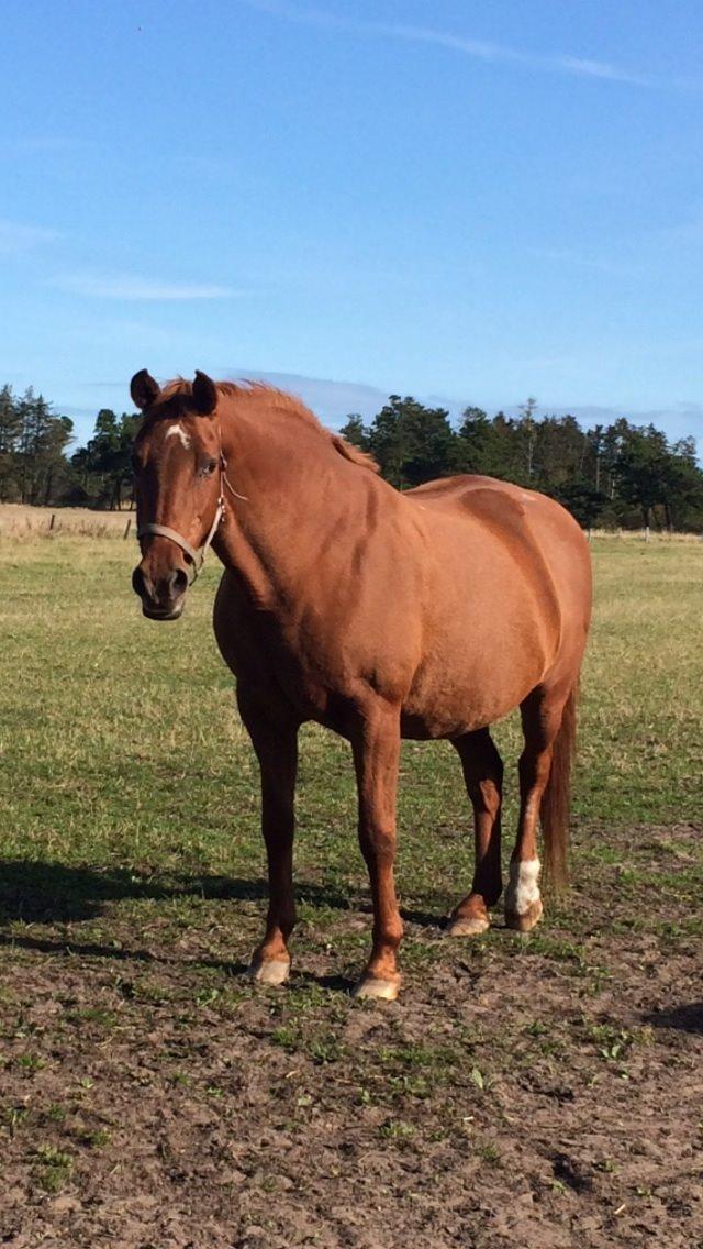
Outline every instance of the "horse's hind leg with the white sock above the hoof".
MULTIPOLYGON (((519 757, 519 821, 506 889, 506 924, 508 928, 517 928, 518 932, 529 932, 542 917, 539 894, 542 864, 537 853, 537 826, 568 697, 569 688, 544 689, 539 686, 527 696, 519 708, 524 734, 524 749, 519 757)), ((568 769, 569 761, 564 763, 568 769)), ((566 834, 564 828, 561 831, 564 844, 566 834)), ((548 839, 553 836, 552 831, 544 828, 544 836, 548 839)), ((547 843, 546 848, 548 854, 554 857, 553 847, 547 843)))

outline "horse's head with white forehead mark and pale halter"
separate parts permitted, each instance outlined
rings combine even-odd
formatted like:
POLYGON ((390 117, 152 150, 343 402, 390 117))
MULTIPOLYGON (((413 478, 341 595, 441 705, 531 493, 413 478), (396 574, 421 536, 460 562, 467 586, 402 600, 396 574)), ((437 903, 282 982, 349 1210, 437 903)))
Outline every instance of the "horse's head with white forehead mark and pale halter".
POLYGON ((192 386, 161 391, 142 368, 130 393, 144 412, 132 452, 141 546, 132 587, 145 616, 175 621, 224 512, 217 388, 196 372, 192 386))

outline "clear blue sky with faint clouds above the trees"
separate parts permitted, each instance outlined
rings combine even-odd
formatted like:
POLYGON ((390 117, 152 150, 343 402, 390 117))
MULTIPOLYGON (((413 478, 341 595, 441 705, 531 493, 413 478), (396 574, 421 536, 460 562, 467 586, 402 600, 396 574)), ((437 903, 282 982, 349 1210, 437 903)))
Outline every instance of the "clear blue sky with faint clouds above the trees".
POLYGON ((702 37, 698 0, 4 0, 0 381, 81 436, 147 366, 703 438, 702 37))

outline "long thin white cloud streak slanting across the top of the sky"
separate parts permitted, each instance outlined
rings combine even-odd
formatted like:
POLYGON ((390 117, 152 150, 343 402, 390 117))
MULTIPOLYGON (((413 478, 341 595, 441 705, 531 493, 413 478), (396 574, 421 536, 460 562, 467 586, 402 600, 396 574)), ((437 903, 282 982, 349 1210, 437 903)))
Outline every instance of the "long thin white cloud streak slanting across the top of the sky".
POLYGON ((250 9, 270 12, 287 21, 307 26, 321 26, 328 30, 346 30, 357 35, 376 35, 385 39, 406 42, 436 44, 451 51, 461 52, 474 60, 522 65, 526 69, 543 70, 552 74, 571 74, 577 77, 593 77, 611 82, 624 82, 631 86, 654 86, 654 81, 644 74, 634 72, 622 65, 609 61, 597 61, 583 56, 562 54, 531 52, 524 49, 509 47, 482 39, 471 39, 431 26, 415 26, 403 22, 356 21, 341 17, 322 9, 298 9, 287 0, 241 0, 250 9))

